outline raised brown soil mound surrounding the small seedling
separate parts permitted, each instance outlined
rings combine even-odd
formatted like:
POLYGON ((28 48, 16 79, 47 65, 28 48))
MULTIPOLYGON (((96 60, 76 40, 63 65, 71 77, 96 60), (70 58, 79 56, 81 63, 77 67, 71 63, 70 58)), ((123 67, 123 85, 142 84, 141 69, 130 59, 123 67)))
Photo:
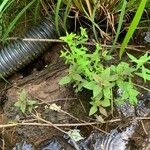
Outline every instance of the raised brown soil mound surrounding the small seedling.
MULTIPOLYGON (((72 86, 60 87, 59 80, 67 73, 67 66, 61 59, 58 59, 57 48, 55 52, 48 52, 45 58, 46 67, 42 70, 32 70, 32 74, 28 76, 20 77, 20 74, 10 79, 11 86, 7 87, 5 91, 5 97, 7 98, 3 106, 3 119, 0 120, 1 124, 22 122, 28 123, 28 125, 14 126, 6 128, 4 130, 4 139, 7 140, 9 145, 14 146, 17 142, 26 139, 30 143, 34 143, 35 146, 39 145, 42 141, 45 141, 55 135, 61 135, 62 133, 54 127, 46 127, 42 124, 45 122, 38 121, 35 116, 40 116, 44 121, 49 121, 55 124, 69 124, 79 122, 78 119, 71 117, 77 116, 77 118, 88 120, 85 116, 88 116, 87 99, 84 102, 80 102, 80 97, 73 93, 72 86), (53 54, 52 54, 53 53, 53 54), (52 57, 54 55, 54 57, 52 57), (48 58, 48 56, 50 56, 48 58), (49 62, 50 65, 48 65, 49 62), (37 102, 33 109, 33 114, 23 114, 21 111, 14 107, 15 102, 18 100, 20 89, 25 89, 28 92, 28 98, 37 102), (63 112, 57 112, 49 108, 50 104, 56 104, 60 106, 63 112), (85 105, 85 107, 83 106, 85 105), (69 113, 70 116, 67 114, 69 113), (79 117, 80 116, 80 117, 79 117), (39 126, 30 125, 30 123, 41 123, 39 126)), ((22 75, 21 75, 22 76, 22 75)), ((83 93, 84 94, 84 93, 83 93)), ((84 97, 86 97, 84 95, 84 97)), ((83 98, 84 99, 84 98, 83 98)), ((69 130, 70 127, 65 127, 65 130, 69 130)))

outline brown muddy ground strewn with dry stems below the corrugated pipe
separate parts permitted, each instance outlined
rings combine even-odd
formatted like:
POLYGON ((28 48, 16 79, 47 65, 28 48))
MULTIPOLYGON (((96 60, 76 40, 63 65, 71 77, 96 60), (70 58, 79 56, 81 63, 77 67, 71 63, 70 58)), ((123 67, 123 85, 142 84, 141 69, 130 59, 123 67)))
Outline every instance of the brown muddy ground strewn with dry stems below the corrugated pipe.
MULTIPOLYGON (((105 118, 107 121, 104 123, 98 122, 95 117, 89 117, 90 93, 83 91, 76 94, 72 85, 60 87, 58 84, 68 70, 68 66, 59 58, 62 48, 62 44, 56 44, 38 61, 11 76, 8 79, 9 83, 1 83, 1 148, 9 150, 16 143, 27 141, 32 143, 35 149, 44 149, 44 143, 51 139, 55 146, 59 142, 56 150, 60 145, 60 149, 76 149, 64 138, 65 132, 70 129, 80 129, 81 135, 86 139, 93 132, 104 135, 114 129, 124 132, 124 129, 136 120, 135 131, 128 139, 128 149, 149 150, 150 105, 146 105, 148 111, 146 110, 146 115, 144 111, 143 116, 124 117, 115 111, 113 116, 105 118), (14 106, 20 89, 25 89, 28 98, 37 102, 32 113, 23 114, 14 106), (61 109, 51 110, 51 104, 56 104, 61 109)), ((150 101, 148 96, 146 98, 150 101)), ((92 142, 89 142, 89 149, 94 149, 91 146, 92 142)))

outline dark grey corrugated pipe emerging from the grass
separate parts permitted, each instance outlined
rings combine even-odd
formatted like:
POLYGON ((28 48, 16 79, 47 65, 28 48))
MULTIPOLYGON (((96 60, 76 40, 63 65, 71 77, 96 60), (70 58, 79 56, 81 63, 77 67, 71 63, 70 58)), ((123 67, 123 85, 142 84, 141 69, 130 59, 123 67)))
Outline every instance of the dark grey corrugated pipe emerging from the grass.
MULTIPOLYGON (((59 32, 62 34, 62 21, 59 20, 59 32)), ((23 38, 57 39, 54 17, 45 18, 40 24, 31 28, 23 38)), ((17 39, 0 51, 0 74, 7 77, 29 64, 41 55, 52 43, 40 41, 24 41, 17 39)))

